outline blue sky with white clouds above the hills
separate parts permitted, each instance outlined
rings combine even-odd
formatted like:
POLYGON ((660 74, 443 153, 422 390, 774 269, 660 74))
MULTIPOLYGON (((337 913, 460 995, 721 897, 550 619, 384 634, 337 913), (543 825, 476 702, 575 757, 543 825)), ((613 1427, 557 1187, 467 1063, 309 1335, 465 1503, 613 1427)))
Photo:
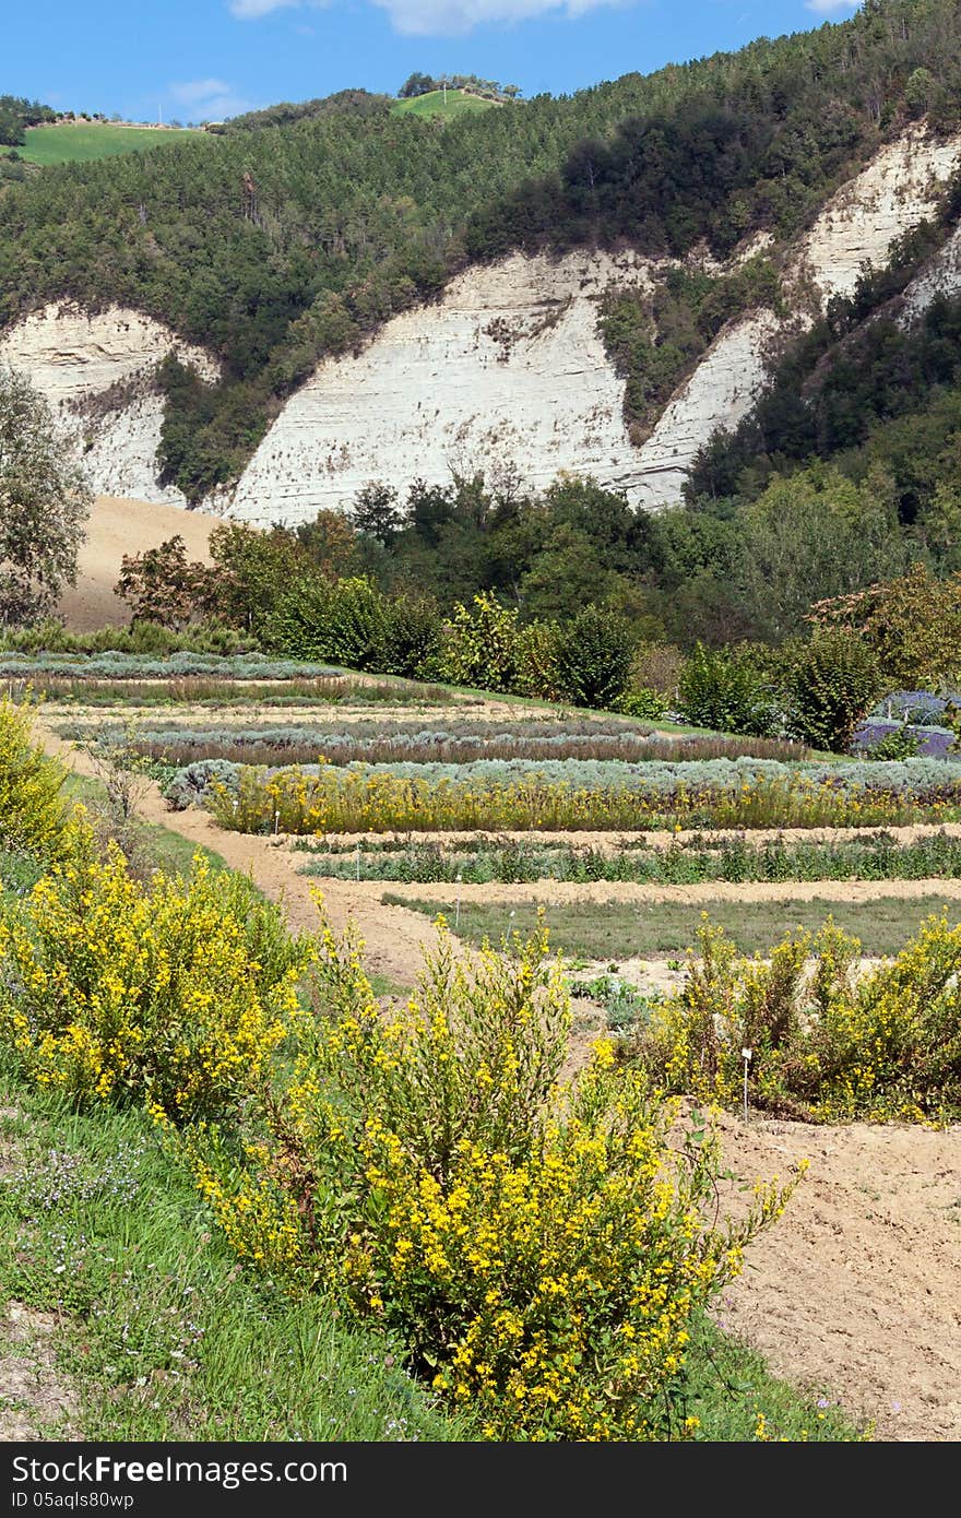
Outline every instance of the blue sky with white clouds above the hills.
POLYGON ((413 70, 527 94, 844 20, 856 0, 46 0, 3 21, 0 93, 131 120, 219 118, 413 70))

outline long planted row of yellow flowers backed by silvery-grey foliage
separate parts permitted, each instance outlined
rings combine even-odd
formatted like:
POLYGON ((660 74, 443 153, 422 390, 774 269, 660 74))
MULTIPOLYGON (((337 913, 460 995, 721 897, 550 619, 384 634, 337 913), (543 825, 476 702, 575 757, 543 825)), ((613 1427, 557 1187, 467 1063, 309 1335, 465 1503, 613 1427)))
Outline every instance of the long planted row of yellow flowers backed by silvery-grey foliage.
MULTIPOLYGON (((202 779, 194 777, 194 779, 202 779)), ((961 817, 961 765, 478 761, 219 770, 220 826, 250 833, 887 827, 961 817)), ((203 797, 205 786, 194 786, 203 797)))

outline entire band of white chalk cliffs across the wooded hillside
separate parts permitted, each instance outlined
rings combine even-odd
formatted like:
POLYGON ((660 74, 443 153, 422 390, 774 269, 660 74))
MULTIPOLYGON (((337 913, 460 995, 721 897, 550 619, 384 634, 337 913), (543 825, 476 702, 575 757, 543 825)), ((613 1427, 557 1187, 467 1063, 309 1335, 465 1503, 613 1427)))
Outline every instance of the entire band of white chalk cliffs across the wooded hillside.
MULTIPOLYGON (((322 363, 282 408, 231 495, 210 505, 255 524, 345 510, 369 480, 401 493, 416 480, 510 469, 530 487, 560 471, 591 474, 641 507, 680 498, 697 452, 735 427, 764 389, 791 332, 865 267, 888 261, 897 237, 931 214, 961 162, 961 137, 914 128, 885 146, 823 208, 782 261, 789 319, 753 311, 732 322, 636 446, 622 417, 624 383, 598 332, 615 288, 650 290, 662 273, 638 255, 515 254, 469 269, 440 301, 387 322, 357 357, 322 363)), ((755 234, 741 249, 764 249, 755 234)), ((732 263, 741 261, 732 260, 732 263)), ((961 290, 961 237, 905 293, 902 320, 961 290)), ((158 322, 112 308, 88 316, 50 305, 0 337, 0 363, 24 369, 85 448, 102 493, 182 504, 156 484, 162 414, 152 381, 176 352, 216 378, 210 355, 158 322)))

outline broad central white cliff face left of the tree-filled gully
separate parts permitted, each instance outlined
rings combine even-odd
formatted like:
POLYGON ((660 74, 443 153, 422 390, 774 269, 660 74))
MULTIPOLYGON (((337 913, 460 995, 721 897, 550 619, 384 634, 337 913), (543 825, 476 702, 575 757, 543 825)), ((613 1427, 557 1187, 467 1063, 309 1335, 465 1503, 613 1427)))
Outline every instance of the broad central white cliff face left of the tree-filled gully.
POLYGON ((404 487, 475 469, 515 468, 534 487, 572 469, 630 490, 638 452, 597 304, 609 284, 650 278, 635 255, 583 252, 469 269, 360 357, 316 370, 254 455, 231 515, 298 521, 349 505, 372 478, 404 487))

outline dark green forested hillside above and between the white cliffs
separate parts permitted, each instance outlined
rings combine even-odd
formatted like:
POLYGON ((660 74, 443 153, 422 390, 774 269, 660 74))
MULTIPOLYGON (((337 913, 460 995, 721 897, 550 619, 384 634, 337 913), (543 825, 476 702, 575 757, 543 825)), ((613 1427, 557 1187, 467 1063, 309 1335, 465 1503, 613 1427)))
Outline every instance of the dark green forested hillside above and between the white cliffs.
MULTIPOLYGON (((0 197, 0 317, 115 302, 214 349, 219 386, 173 363, 162 375, 164 475, 199 499, 237 478, 322 357, 469 261, 584 243, 723 258, 758 231, 774 258, 905 123, 956 128, 959 44, 953 0, 876 0, 843 26, 442 126, 346 91, 149 161, 64 165, 0 197)), ((680 279, 653 380, 642 320, 609 313, 629 419, 645 425, 698 348, 770 291, 759 266, 709 290, 680 279)))

